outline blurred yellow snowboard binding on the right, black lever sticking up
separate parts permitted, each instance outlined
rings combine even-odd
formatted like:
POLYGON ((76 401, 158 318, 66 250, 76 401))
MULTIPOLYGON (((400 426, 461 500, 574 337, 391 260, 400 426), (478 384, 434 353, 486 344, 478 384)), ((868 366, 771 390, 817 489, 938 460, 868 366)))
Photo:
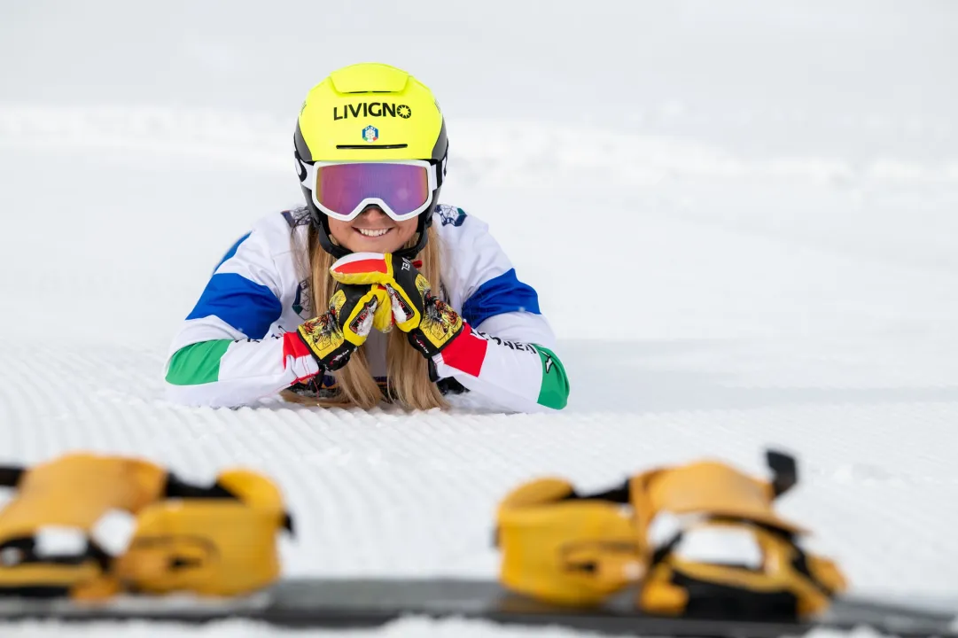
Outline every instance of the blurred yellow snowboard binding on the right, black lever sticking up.
POLYGON ((497 513, 500 581, 553 604, 599 605, 628 587, 643 612, 795 619, 824 611, 847 583, 799 545, 808 532, 774 510, 794 460, 769 452, 761 481, 718 462, 660 467, 615 490, 580 494, 546 478, 497 513))

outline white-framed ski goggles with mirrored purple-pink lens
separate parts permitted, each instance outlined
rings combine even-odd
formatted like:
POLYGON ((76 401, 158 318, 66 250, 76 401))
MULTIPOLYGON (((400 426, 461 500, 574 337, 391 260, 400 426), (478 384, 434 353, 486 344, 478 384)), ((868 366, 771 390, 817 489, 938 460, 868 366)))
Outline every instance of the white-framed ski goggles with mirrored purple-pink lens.
POLYGON ((423 160, 302 165, 312 203, 340 221, 352 221, 370 205, 396 221, 411 219, 425 211, 439 184, 436 165, 423 160))

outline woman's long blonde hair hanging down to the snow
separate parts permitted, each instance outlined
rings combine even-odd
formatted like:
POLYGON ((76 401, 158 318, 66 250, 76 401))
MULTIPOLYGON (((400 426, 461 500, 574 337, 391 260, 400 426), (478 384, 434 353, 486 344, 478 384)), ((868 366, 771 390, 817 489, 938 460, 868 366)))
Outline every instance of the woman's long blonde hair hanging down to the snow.
MULTIPOLYGON (((317 314, 329 307, 335 284, 330 274, 330 267, 335 260, 319 243, 318 232, 310 224, 307 272, 312 308, 317 314)), ((426 232, 428 240, 416 259, 422 260, 420 271, 433 285, 433 294, 438 296, 441 285, 442 246, 439 234, 434 227, 430 226, 426 232)), ((406 246, 415 245, 418 237, 418 234, 414 236, 406 246)), ((331 373, 336 379, 338 388, 336 396, 329 399, 307 399, 287 390, 283 393, 285 399, 323 406, 356 406, 363 409, 375 407, 384 397, 376 379, 369 371, 365 349, 365 346, 357 348, 350 357, 349 363, 331 373)), ((436 384, 429 380, 428 363, 425 357, 409 345, 406 332, 397 328, 389 333, 387 340, 386 370, 388 376, 386 399, 414 410, 429 410, 448 405, 436 384)))

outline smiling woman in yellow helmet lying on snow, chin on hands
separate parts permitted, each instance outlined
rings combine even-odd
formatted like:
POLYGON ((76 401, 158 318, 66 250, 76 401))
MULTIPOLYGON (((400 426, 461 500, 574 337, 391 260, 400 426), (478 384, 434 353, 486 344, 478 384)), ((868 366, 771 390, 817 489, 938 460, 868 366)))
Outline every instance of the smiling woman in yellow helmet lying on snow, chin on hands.
POLYGON ((465 388, 563 408, 536 291, 484 222, 439 203, 447 147, 432 93, 399 69, 356 64, 313 87, 295 132, 306 206, 263 217, 219 263, 173 339, 169 398, 429 409, 465 388))

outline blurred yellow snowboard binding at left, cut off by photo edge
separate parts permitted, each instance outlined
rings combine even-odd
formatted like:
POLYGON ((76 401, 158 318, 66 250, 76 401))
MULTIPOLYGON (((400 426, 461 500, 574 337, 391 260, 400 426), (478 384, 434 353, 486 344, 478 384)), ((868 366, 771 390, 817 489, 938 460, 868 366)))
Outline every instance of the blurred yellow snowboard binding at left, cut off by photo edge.
POLYGON ((279 490, 241 469, 200 487, 147 461, 67 454, 0 467, 0 486, 16 490, 0 511, 0 595, 248 593, 278 578, 277 535, 292 531, 279 490), (111 555, 94 529, 118 510, 134 516, 135 530, 125 551, 111 555))

